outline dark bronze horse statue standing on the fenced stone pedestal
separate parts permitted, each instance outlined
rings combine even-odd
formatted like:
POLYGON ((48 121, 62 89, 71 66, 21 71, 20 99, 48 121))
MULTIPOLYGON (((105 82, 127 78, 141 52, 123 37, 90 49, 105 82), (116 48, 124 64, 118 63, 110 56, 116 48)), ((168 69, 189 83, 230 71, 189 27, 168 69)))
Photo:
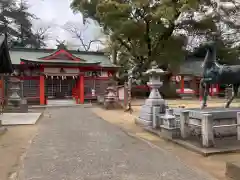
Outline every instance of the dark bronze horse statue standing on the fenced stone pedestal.
POLYGON ((221 65, 216 60, 216 44, 214 41, 207 43, 207 54, 202 64, 203 74, 200 81, 202 94, 201 109, 207 106, 207 96, 211 84, 226 84, 233 86, 232 97, 228 99, 225 108, 229 108, 231 102, 238 94, 240 85, 240 65, 221 65))

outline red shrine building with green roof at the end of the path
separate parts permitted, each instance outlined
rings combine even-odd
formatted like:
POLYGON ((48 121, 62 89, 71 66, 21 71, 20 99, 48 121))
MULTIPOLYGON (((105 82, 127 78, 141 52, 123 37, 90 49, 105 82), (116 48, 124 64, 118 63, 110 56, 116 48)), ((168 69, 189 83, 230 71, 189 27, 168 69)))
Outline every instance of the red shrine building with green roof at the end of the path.
POLYGON ((76 103, 103 94, 117 66, 103 52, 63 48, 10 50, 14 74, 23 81, 28 104, 44 105, 50 99, 74 99, 76 103))

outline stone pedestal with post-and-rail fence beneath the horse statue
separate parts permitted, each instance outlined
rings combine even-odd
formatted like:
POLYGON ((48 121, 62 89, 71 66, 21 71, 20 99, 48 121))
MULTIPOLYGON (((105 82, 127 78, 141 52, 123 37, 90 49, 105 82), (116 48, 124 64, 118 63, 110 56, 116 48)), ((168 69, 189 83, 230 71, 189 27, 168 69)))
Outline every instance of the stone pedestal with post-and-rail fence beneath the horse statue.
MULTIPOLYGON (((204 110, 177 108, 174 109, 174 115, 180 119, 179 138, 187 140, 194 139, 193 136, 198 137, 201 141, 200 147, 221 148, 221 140, 232 137, 229 142, 234 141, 233 145, 236 148, 235 144, 240 140, 239 108, 206 108, 204 110), (217 141, 216 138, 218 138, 217 141)), ((240 149, 240 141, 238 143, 240 149)), ((230 144, 225 144, 227 146, 224 147, 225 150, 231 150, 230 144)))

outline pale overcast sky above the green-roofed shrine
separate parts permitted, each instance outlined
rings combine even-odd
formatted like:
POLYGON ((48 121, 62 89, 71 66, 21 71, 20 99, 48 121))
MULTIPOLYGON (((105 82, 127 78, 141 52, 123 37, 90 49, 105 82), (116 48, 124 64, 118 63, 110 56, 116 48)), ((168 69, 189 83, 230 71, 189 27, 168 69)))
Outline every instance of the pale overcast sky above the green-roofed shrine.
MULTIPOLYGON (((27 0, 27 2, 30 6, 29 11, 40 18, 34 21, 34 29, 51 27, 49 30, 51 38, 47 42, 49 47, 55 47, 56 39, 66 40, 67 44, 80 44, 78 40, 72 38, 71 34, 61 28, 67 22, 83 28, 81 14, 74 14, 70 9, 71 0, 27 0)), ((99 34, 100 29, 92 23, 84 32, 84 39, 88 42, 99 34)), ((96 48, 97 45, 93 46, 92 50, 96 48)))

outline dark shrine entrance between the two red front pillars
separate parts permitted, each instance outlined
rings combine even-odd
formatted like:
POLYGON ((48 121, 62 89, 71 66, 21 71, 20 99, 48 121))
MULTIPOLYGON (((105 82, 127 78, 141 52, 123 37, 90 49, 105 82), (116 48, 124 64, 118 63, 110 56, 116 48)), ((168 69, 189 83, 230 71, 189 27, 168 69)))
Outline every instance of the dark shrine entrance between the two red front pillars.
POLYGON ((46 96, 48 99, 71 99, 72 89, 76 85, 72 77, 48 77, 45 81, 46 96))

